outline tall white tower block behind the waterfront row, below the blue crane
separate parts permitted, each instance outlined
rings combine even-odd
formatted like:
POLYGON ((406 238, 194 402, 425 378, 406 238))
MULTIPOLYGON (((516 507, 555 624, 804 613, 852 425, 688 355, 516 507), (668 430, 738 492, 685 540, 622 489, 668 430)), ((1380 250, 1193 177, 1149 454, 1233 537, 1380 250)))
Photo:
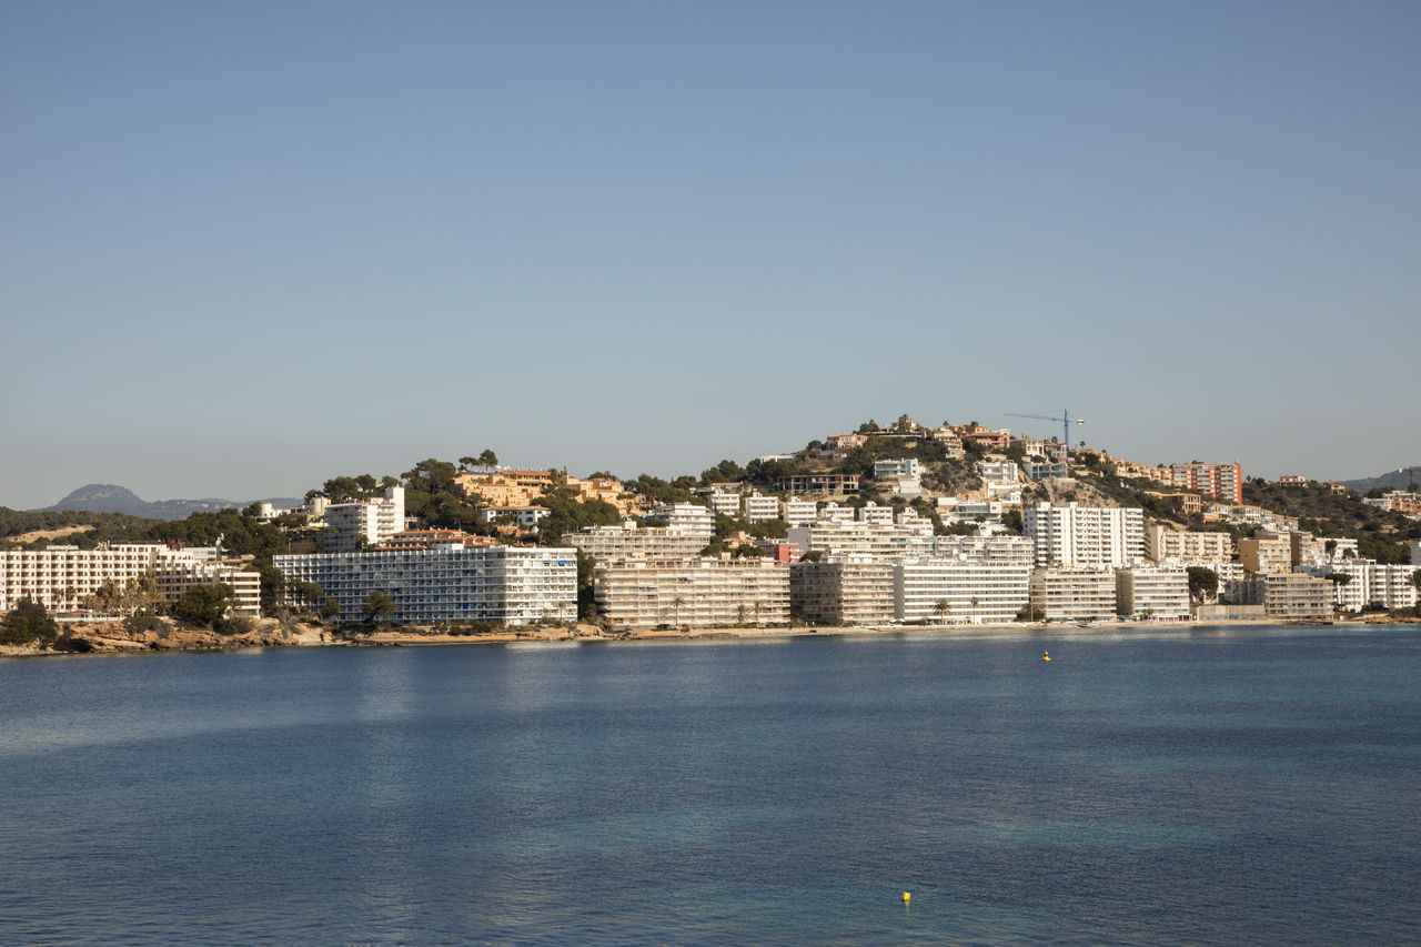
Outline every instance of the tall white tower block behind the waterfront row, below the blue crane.
POLYGON ((1022 509, 1022 522, 1036 545, 1037 566, 1113 570, 1144 560, 1140 508, 1034 503, 1022 509))

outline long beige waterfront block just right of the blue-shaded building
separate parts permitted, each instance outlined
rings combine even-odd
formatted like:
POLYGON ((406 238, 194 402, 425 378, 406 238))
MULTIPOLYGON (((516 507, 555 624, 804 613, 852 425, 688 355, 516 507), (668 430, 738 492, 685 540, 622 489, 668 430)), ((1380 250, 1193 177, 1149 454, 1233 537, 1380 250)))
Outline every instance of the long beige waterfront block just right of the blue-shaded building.
POLYGON ((790 566, 769 559, 624 559, 593 569, 612 628, 787 624, 790 566))

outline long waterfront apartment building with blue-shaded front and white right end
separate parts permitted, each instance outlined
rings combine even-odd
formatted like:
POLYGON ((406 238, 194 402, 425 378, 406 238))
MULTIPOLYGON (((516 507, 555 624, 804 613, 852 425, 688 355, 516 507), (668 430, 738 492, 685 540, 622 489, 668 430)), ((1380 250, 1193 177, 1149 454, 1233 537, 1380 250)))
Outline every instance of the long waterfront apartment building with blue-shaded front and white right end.
POLYGON ((577 617, 577 552, 537 546, 466 547, 276 556, 290 582, 314 582, 341 606, 341 621, 361 621, 365 599, 395 600, 395 621, 502 621, 531 624, 577 617))

